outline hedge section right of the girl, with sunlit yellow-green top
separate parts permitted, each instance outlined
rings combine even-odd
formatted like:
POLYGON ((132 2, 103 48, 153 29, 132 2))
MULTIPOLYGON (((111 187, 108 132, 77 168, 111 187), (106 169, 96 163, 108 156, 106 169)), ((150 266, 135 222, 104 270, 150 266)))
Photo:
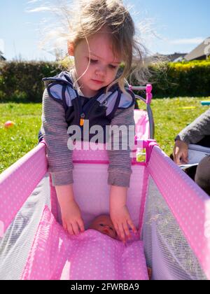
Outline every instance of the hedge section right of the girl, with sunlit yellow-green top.
POLYGON ((209 97, 210 59, 150 67, 155 97, 209 97))

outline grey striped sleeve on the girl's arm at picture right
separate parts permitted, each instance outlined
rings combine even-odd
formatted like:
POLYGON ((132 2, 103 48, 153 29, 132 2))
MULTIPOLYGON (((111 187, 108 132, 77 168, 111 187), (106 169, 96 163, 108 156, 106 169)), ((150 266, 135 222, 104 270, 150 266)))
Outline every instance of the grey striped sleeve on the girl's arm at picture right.
MULTIPOLYGON (((116 116, 111 121, 111 126, 131 126, 132 130, 134 130, 134 106, 129 109, 118 109, 116 111, 116 116)), ((134 142, 134 132, 130 132, 130 141, 134 142)), ((110 137, 110 142, 112 147, 115 146, 113 142, 115 141, 116 136, 112 133, 110 137)), ((129 146, 129 140, 127 137, 122 137, 120 134, 120 148, 123 145, 127 145, 127 150, 113 150, 111 148, 109 153, 109 178, 108 183, 112 186, 120 186, 120 187, 130 187, 130 176, 132 174, 131 169, 131 158, 130 153, 131 149, 129 146)))

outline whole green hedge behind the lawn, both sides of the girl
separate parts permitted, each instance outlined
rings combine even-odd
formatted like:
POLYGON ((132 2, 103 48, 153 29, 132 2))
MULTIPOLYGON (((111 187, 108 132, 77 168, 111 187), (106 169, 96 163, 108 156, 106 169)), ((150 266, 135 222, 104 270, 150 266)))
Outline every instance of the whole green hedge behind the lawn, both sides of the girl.
MULTIPOLYGON (((2 62, 0 102, 41 102, 42 78, 65 68, 66 62, 2 62)), ((154 97, 210 96, 210 60, 162 63, 149 69, 154 97)))

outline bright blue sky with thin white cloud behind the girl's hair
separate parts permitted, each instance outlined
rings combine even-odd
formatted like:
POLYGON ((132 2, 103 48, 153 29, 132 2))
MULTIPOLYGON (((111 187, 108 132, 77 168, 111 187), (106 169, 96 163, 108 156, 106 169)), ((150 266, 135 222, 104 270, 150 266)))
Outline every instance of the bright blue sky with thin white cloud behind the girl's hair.
MULTIPOLYGON (((7 59, 55 59, 38 48, 45 27, 43 20, 49 21, 49 13, 28 12, 45 3, 55 3, 55 0, 1 1, 0 50, 7 59)), ((140 21, 151 24, 142 37, 153 53, 190 52, 210 37, 209 0, 124 0, 124 3, 134 6, 132 15, 137 26, 140 21)))

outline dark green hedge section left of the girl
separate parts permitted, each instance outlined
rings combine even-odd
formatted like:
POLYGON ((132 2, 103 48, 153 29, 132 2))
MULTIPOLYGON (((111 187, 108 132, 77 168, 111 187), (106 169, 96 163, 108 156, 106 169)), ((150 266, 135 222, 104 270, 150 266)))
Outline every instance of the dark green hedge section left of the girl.
POLYGON ((0 102, 41 102, 42 78, 62 70, 57 62, 2 62, 0 102))

